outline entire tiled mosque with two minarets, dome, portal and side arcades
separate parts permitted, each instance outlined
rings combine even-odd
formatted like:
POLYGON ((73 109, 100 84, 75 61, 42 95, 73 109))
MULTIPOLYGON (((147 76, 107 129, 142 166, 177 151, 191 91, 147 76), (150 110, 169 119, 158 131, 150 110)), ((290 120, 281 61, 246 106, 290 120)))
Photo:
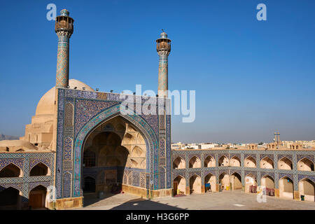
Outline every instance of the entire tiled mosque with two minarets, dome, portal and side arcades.
POLYGON ((288 150, 278 139, 267 148, 171 150, 171 116, 165 113, 171 40, 164 31, 156 40, 156 108, 162 105, 164 113, 139 114, 135 107, 121 113, 122 99, 144 104, 151 97, 99 92, 69 80, 73 22, 65 9, 56 18, 56 85, 41 97, 25 136, 0 141, 0 209, 83 207, 86 195, 114 188, 153 198, 257 193, 265 186, 270 196, 314 202, 314 149, 288 150))

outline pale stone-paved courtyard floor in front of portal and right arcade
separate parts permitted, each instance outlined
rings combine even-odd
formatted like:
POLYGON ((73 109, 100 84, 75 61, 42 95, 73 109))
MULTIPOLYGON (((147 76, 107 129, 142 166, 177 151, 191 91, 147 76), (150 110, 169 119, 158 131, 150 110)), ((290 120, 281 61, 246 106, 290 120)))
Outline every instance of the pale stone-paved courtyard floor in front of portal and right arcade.
POLYGON ((134 195, 119 194, 106 195, 104 200, 85 197, 85 207, 81 209, 95 210, 260 210, 260 209, 311 209, 315 210, 315 202, 297 202, 267 197, 266 203, 256 201, 256 195, 241 193, 240 191, 223 191, 221 193, 206 193, 183 197, 163 197, 154 200, 141 199, 134 195))

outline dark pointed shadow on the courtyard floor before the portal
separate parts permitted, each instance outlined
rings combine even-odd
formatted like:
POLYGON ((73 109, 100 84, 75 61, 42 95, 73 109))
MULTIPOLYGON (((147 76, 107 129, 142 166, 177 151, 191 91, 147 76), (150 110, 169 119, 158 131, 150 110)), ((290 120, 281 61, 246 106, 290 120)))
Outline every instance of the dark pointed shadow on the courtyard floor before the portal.
POLYGON ((185 210, 151 200, 130 200, 109 210, 185 210))

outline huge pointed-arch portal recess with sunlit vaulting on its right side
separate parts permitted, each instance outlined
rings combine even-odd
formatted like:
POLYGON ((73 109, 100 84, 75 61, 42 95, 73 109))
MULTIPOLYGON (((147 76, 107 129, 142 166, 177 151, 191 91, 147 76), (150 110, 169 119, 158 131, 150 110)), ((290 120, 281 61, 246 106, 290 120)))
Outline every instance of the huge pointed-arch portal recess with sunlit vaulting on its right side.
MULTIPOLYGON (((146 172, 146 141, 134 125, 117 116, 108 120, 86 137, 83 145, 83 193, 128 193, 132 176, 124 173, 146 172), (127 178, 128 176, 128 178, 127 178)), ((130 174, 130 173, 128 173, 130 174)), ((139 186, 138 186, 139 187, 139 186)), ((145 186, 142 186, 143 188, 145 186)), ((94 197, 89 194, 88 200, 94 197)))

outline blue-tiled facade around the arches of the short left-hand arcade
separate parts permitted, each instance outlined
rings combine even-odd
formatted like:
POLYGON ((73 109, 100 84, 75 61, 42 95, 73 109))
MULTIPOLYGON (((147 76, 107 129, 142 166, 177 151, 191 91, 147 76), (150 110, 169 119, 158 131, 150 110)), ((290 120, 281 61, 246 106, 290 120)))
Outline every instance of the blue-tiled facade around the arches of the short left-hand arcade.
POLYGON ((13 163, 22 170, 21 177, 0 178, 0 190, 16 188, 22 193, 22 202, 27 202, 29 191, 38 185, 53 186, 55 172, 55 153, 0 153, 0 170, 13 163), (29 172, 39 162, 50 168, 50 176, 29 176, 29 172))

